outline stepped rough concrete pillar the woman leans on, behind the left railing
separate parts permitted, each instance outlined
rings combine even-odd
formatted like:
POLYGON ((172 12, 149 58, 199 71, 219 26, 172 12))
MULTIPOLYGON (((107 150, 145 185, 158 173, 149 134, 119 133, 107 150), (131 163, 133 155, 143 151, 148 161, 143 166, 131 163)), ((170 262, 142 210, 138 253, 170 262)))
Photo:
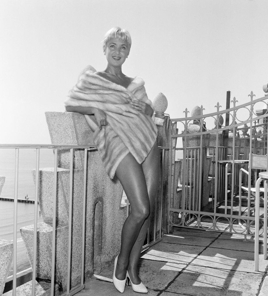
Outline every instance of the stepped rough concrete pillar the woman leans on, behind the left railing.
MULTIPOLYGON (((46 112, 52 144, 90 144, 92 131, 83 115, 46 112)), ((104 171, 97 150, 88 151, 86 181, 85 276, 110 265, 120 250, 126 206, 121 205, 122 186, 104 171)), ((58 150, 56 204, 56 278, 66 290, 69 215, 69 150, 58 150)), ((74 150, 71 287, 81 277, 84 150, 74 150)), ((54 168, 40 168, 38 200, 44 223, 37 229, 37 277, 51 278, 54 168)), ((35 170, 33 170, 35 180, 35 170)), ((35 180, 36 181, 36 180, 35 180)), ((21 229, 32 264, 33 225, 21 229)))

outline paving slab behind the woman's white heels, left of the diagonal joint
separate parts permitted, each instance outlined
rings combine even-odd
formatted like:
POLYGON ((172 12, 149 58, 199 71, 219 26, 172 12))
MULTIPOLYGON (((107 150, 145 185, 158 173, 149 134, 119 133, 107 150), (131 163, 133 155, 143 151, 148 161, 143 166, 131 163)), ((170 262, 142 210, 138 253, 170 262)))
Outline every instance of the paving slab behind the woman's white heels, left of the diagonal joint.
MULTIPOLYGON (((138 271, 143 284, 149 289, 164 289, 185 268, 186 264, 140 259, 138 271)), ((114 266, 103 269, 98 275, 112 278, 114 266)))

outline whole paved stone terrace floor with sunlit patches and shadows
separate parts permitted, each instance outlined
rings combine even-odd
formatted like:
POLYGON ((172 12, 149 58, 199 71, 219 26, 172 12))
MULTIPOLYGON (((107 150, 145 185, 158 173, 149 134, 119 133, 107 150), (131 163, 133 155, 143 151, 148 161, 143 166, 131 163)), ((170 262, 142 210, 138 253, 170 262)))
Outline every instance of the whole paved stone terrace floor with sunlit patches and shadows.
MULTIPOLYGON (((244 235, 177 228, 142 254, 139 270, 150 296, 268 295, 268 260, 260 254, 254 271, 254 238, 244 235)), ((93 276, 76 296, 122 295, 112 274, 113 266, 93 276)), ((138 293, 126 286, 123 295, 138 293)))

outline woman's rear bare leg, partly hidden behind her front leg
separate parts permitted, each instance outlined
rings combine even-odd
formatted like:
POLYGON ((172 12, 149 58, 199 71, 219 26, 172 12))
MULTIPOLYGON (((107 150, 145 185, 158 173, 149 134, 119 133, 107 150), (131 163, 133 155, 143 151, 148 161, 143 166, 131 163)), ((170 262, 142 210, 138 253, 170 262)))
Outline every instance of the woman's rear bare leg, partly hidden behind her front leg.
MULTIPOLYGON (((143 173, 146 178, 146 184, 147 184, 148 195, 150 200, 150 213, 151 213, 154 200, 157 194, 157 187, 158 187, 159 173, 160 173, 160 152, 157 147, 157 144, 153 146, 149 155, 146 157, 145 161, 142 163, 142 167, 143 167, 143 173)), ((138 275, 138 262, 140 259, 140 252, 144 243, 144 239, 146 237, 146 233, 149 227, 149 222, 150 222, 150 216, 148 216, 144 221, 143 226, 140 229, 138 238, 130 252, 128 274, 133 284, 140 284, 140 278, 138 275)))

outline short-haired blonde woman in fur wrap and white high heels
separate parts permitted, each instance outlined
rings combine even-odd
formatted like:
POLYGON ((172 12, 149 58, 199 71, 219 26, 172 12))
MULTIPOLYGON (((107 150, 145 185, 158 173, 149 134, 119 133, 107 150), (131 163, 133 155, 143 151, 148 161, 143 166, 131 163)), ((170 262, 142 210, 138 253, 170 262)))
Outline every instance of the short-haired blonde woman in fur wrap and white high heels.
POLYGON ((122 73, 130 46, 128 31, 115 27, 106 33, 106 69, 81 75, 69 92, 66 111, 85 114, 95 131, 94 142, 104 168, 110 178, 116 174, 130 202, 131 213, 122 228, 113 283, 122 293, 129 280, 135 292, 147 293, 138 275, 138 261, 156 197, 160 154, 153 105, 147 98, 144 81, 122 73))

